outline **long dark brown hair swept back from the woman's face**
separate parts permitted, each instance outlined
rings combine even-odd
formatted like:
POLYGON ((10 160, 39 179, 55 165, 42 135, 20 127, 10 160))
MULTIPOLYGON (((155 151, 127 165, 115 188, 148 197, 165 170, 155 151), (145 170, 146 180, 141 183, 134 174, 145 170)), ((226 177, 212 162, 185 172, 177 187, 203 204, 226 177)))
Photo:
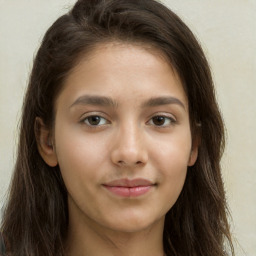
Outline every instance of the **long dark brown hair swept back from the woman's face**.
POLYGON ((138 43, 159 50, 177 71, 189 102, 199 154, 166 215, 164 250, 176 256, 224 256, 233 246, 220 171, 224 128, 205 55, 171 10, 154 0, 79 0, 47 31, 34 60, 23 105, 15 172, 2 231, 14 256, 64 255, 67 192, 59 167, 49 167, 36 142, 35 119, 54 125, 54 103, 79 58, 97 44, 138 43))

